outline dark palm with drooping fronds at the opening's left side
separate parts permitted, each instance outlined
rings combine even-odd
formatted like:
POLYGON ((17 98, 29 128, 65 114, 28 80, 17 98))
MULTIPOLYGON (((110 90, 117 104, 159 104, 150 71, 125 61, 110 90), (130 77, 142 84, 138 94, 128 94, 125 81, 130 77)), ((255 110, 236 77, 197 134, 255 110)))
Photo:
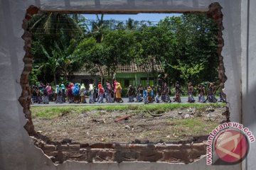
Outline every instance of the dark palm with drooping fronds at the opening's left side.
MULTIPOLYGON (((80 37, 83 37, 84 30, 80 27, 78 22, 82 22, 82 18, 78 16, 75 20, 70 18, 70 15, 60 13, 42 13, 33 16, 28 23, 28 30, 33 34, 31 53, 33 55, 34 67, 40 66, 41 73, 37 77, 45 79, 45 81, 52 81, 50 76, 53 72, 49 72, 49 64, 53 61, 49 60, 53 52, 58 58, 60 64, 58 72, 55 72, 56 77, 64 76, 67 79, 68 73, 72 71, 73 65, 77 64, 75 58, 70 54, 75 50, 80 37), (42 50, 42 47, 43 49, 42 50), (48 55, 46 55, 46 52, 48 55), (58 54, 57 54, 58 53, 58 54), (46 74, 48 77, 46 77, 46 74)), ((57 59, 56 59, 57 60, 57 59)))

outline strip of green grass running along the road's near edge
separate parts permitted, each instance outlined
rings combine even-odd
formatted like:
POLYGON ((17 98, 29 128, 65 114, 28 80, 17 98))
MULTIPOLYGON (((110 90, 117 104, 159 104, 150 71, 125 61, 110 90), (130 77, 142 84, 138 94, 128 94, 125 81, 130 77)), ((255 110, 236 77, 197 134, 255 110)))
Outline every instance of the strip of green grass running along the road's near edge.
MULTIPOLYGON (((61 115, 73 114, 78 115, 87 111, 154 111, 162 113, 172 109, 196 108, 203 109, 208 107, 218 108, 225 106, 225 103, 163 103, 153 105, 104 105, 104 106, 33 106, 31 107, 32 118, 52 119, 61 115)), ((100 114, 100 112, 99 112, 100 114)))

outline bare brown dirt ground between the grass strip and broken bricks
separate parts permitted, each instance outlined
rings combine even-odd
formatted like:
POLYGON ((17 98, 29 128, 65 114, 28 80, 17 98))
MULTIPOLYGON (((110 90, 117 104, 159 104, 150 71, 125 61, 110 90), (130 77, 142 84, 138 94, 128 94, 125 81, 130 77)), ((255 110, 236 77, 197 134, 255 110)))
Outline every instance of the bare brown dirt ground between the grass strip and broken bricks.
POLYGON ((225 107, 178 108, 166 112, 70 111, 53 119, 33 118, 35 130, 53 142, 181 142, 207 136, 220 122, 225 107), (119 120, 126 115, 129 118, 119 120))

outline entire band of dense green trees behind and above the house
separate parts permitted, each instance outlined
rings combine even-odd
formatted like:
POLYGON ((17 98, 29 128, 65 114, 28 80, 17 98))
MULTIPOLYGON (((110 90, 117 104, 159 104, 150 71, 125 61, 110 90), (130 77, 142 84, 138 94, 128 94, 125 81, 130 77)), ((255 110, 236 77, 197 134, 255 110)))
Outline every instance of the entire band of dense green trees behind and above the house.
POLYGON ((204 15, 166 17, 156 25, 132 19, 105 21, 103 15, 90 26, 85 21, 80 15, 58 13, 33 17, 29 30, 35 68, 41 70, 38 79, 57 84, 84 64, 88 71, 101 74, 105 66, 112 77, 117 64, 134 62, 145 70, 151 67, 155 76, 153 65, 162 64, 172 83, 218 80, 218 29, 204 15))

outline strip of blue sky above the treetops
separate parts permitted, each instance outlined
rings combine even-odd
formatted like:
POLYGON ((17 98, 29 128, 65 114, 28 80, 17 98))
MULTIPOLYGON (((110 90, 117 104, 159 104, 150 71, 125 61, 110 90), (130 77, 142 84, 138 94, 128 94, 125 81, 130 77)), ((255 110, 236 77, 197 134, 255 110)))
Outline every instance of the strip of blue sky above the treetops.
MULTIPOLYGON (((127 21, 129 18, 134 19, 135 21, 151 21, 159 22, 161 19, 164 19, 166 16, 181 16, 181 13, 138 13, 138 14, 105 14, 104 20, 114 19, 117 21, 127 21)), ((83 14, 85 18, 89 20, 96 20, 95 14, 83 14)))

